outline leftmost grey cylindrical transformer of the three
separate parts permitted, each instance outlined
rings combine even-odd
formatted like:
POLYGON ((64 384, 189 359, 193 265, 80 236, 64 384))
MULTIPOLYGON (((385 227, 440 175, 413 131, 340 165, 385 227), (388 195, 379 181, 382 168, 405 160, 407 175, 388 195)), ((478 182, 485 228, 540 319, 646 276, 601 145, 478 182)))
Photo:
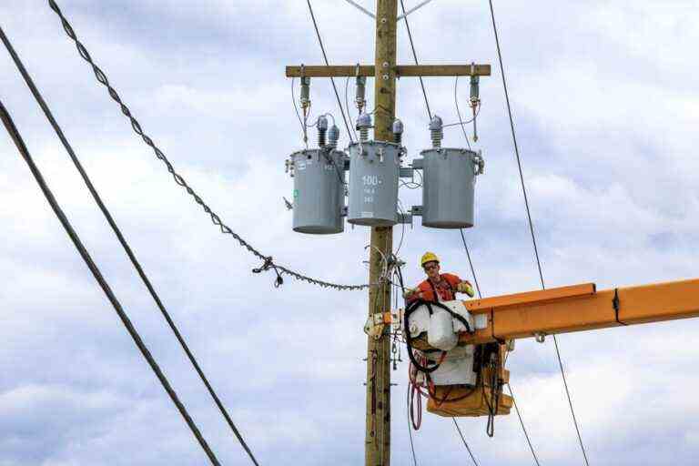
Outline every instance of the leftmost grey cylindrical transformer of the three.
POLYGON ((306 149, 291 155, 294 231, 329 235, 344 231, 345 159, 339 150, 306 149))

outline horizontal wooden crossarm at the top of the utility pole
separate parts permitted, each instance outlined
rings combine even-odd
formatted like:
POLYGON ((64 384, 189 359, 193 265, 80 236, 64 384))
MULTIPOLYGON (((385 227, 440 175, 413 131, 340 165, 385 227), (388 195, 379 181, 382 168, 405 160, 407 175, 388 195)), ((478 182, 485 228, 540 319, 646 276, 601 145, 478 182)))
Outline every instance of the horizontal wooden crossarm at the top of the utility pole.
MULTIPOLYGON (((397 65, 391 69, 397 77, 491 76, 490 65, 397 65)), ((287 66, 287 77, 376 76, 373 65, 287 66)))

